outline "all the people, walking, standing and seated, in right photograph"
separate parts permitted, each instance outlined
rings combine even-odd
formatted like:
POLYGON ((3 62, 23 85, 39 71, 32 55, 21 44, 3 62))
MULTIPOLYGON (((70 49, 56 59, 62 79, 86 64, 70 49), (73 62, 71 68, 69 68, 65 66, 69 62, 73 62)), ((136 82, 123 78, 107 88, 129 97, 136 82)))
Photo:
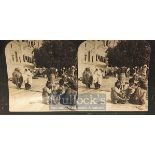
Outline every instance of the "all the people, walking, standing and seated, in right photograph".
POLYGON ((83 72, 82 83, 95 89, 104 86, 103 78, 113 76, 117 78, 114 87, 111 88, 111 102, 133 103, 143 105, 147 98, 147 82, 149 68, 147 65, 141 67, 108 67, 96 69, 94 72, 86 68, 83 72))

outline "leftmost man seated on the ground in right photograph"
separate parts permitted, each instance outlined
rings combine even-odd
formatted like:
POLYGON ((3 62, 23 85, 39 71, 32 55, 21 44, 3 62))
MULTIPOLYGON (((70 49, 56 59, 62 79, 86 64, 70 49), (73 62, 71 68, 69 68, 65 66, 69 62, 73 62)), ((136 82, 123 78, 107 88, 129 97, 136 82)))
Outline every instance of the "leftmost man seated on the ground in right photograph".
POLYGON ((115 83, 115 87, 111 88, 111 101, 114 104, 121 103, 124 104, 126 102, 125 97, 123 97, 121 93, 121 83, 117 81, 115 83))

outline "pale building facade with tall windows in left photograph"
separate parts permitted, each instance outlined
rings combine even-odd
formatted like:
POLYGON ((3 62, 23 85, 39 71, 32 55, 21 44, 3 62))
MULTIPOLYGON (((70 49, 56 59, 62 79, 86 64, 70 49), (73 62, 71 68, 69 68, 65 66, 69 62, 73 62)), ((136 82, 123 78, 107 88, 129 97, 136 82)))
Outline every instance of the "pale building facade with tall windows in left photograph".
POLYGON ((42 41, 36 40, 14 40, 7 44, 5 56, 7 63, 8 78, 12 77, 15 68, 20 68, 21 72, 25 68, 35 67, 33 59, 33 49, 39 48, 42 41))

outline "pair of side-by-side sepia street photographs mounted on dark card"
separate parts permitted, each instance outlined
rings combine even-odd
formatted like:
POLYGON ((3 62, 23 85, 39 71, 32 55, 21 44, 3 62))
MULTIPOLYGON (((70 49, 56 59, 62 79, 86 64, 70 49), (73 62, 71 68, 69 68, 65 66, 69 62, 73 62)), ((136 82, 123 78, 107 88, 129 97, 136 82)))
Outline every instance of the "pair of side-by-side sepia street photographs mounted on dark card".
POLYGON ((148 111, 149 42, 14 40, 10 112, 148 111))

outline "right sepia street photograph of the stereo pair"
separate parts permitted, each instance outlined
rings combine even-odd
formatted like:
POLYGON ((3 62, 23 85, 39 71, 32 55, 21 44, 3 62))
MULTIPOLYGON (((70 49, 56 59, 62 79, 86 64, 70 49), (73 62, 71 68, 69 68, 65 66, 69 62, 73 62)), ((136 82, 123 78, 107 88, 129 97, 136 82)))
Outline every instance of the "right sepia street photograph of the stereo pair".
POLYGON ((142 40, 84 41, 78 49, 78 94, 103 98, 89 110, 147 111, 150 52, 142 40))

